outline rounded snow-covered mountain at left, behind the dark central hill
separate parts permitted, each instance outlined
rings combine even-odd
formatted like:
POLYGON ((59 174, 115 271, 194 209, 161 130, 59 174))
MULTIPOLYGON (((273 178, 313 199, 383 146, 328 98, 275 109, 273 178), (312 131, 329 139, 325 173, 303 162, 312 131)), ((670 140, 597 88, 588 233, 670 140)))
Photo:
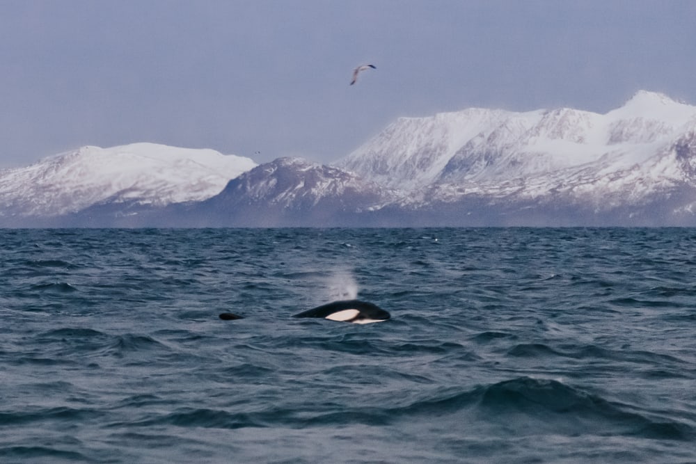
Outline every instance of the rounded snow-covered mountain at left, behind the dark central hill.
POLYGON ((81 147, 25 168, 0 170, 0 221, 113 203, 162 207, 205 200, 254 166, 251 159, 214 150, 154 143, 81 147))

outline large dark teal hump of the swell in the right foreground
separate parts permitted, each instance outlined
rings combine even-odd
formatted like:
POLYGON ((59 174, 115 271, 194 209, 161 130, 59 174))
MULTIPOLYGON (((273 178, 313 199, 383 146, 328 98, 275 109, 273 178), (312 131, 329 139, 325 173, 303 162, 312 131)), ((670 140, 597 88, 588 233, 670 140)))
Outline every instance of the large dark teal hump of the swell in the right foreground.
POLYGON ((475 422, 488 420, 514 435, 626 435, 661 440, 693 440, 696 430, 683 422, 665 419, 627 403, 608 401, 560 381, 520 377, 476 387, 456 394, 423 399, 393 410, 413 415, 459 415, 475 422))

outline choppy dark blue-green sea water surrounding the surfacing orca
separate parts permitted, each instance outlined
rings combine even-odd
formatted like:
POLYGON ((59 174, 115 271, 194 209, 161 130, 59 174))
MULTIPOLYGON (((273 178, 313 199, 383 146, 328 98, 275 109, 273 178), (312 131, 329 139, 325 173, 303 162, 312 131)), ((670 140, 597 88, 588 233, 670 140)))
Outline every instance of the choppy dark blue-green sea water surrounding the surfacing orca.
POLYGON ((696 462, 693 229, 0 243, 2 463, 696 462))

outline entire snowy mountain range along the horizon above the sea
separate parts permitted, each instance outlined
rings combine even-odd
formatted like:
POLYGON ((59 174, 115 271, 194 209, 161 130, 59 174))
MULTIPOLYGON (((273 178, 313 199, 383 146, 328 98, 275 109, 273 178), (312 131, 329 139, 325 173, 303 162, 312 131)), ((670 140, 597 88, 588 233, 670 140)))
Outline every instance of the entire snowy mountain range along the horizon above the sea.
POLYGON ((12 173, 0 171, 0 225, 696 225, 696 106, 647 91, 603 114, 472 108, 398 118, 329 165, 256 165, 154 144, 99 150, 123 147, 138 153, 121 153, 123 166, 107 169, 101 186, 81 184, 91 165, 73 166, 67 155, 68 185, 46 180, 66 175, 65 166, 25 168, 42 189, 37 197, 17 187, 15 203, 5 182, 12 173))

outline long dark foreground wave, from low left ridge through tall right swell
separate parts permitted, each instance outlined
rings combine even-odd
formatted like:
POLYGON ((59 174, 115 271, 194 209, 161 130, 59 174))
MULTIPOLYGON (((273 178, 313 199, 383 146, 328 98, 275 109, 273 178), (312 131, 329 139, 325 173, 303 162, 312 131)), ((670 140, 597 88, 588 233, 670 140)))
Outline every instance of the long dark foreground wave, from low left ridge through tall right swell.
MULTIPOLYGON (((326 400, 331 401, 331 400, 326 400)), ((393 401, 398 401, 395 399, 393 401)), ((172 413, 149 414, 129 426, 241 429, 285 426, 290 428, 346 426, 395 426, 403 422, 429 421, 441 424, 470 422, 487 424, 498 434, 529 436, 555 433, 567 435, 622 435, 652 440, 690 441, 693 426, 659 415, 638 413, 633 405, 608 401, 560 381, 521 377, 456 392, 436 390, 427 398, 406 406, 267 407, 244 410, 226 408, 180 408, 172 413)), ((109 427, 126 426, 113 423, 109 427)))

